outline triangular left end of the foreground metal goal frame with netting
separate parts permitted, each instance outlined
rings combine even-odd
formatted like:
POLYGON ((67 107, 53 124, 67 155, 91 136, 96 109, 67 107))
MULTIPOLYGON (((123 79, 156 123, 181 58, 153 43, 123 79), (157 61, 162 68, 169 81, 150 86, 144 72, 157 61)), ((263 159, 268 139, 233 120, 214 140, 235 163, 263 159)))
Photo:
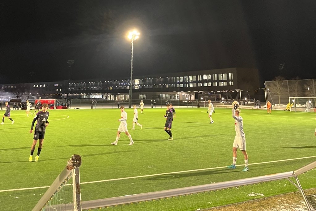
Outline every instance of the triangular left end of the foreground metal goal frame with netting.
POLYGON ((81 211, 80 166, 80 155, 73 155, 32 211, 81 211))

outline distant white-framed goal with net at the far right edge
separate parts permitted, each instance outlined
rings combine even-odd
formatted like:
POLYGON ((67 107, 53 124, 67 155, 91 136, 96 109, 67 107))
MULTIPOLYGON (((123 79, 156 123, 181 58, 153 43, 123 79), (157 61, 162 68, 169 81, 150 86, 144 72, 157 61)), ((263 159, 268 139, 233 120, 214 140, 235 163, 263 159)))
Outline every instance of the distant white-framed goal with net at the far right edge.
POLYGON ((289 111, 313 111, 316 106, 316 97, 289 97, 289 111), (290 105, 289 105, 290 103, 290 105))

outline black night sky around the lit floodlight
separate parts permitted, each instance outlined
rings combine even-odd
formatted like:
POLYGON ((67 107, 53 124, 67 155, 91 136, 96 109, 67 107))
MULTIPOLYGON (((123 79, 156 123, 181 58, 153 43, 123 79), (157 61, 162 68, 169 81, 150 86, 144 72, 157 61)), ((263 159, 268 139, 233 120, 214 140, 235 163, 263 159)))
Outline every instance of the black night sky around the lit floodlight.
POLYGON ((262 83, 316 78, 316 1, 23 0, 0 3, 0 83, 128 79, 134 28, 134 76, 253 67, 262 83))

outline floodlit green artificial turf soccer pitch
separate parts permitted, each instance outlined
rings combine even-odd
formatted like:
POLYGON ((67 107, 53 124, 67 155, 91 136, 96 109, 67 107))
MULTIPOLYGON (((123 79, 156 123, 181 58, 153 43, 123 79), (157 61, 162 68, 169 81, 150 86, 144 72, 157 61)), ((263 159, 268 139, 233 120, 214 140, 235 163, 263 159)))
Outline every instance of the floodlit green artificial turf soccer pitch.
MULTIPOLYGON (((139 112, 143 129, 132 128, 133 110, 126 109, 128 128, 134 145, 121 133, 115 140, 119 109, 48 110, 50 125, 39 162, 28 162, 33 134, 33 117, 12 111, 12 125, 0 125, 0 205, 4 210, 31 210, 66 166, 72 154, 82 157, 81 182, 159 174, 134 179, 82 184, 82 201, 167 190, 287 172, 316 160, 315 113, 242 109, 249 171, 243 166, 224 168, 232 163, 235 136, 231 109, 216 108, 210 124, 206 108, 175 108, 173 140, 163 130, 166 109, 145 108, 139 112), (305 158, 310 157, 310 158, 305 158), (301 158, 296 160, 287 160, 301 158), (265 163, 270 161, 280 161, 265 163), (256 164, 261 163, 261 164, 256 164), (223 168, 216 168, 223 167, 223 168), (215 168, 200 171, 187 170, 215 168), (15 190, 34 188, 30 190, 15 190), (23 209, 21 209, 23 206, 23 209)), ((34 111, 34 110, 33 110, 34 111)), ((4 111, 1 111, 4 113, 4 111)), ((34 151, 34 157, 37 146, 34 151)), ((237 151, 237 165, 244 158, 237 151)), ((304 188, 316 187, 316 180, 301 181, 304 188)))

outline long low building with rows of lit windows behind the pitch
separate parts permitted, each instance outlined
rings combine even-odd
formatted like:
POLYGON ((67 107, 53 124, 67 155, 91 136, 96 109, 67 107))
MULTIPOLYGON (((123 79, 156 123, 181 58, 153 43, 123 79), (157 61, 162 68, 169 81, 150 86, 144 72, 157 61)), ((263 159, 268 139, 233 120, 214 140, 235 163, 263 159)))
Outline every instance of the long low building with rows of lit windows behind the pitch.
MULTIPOLYGON (((129 76, 122 78, 64 80, 55 82, 2 84, 3 92, 23 92, 22 99, 99 98, 128 100, 129 76)), ((135 76, 132 99, 214 100, 224 95, 234 99, 235 89, 259 87, 258 69, 225 68, 135 76), (215 92, 215 93, 214 93, 215 92)), ((1 96, 0 96, 1 97, 1 96)))

